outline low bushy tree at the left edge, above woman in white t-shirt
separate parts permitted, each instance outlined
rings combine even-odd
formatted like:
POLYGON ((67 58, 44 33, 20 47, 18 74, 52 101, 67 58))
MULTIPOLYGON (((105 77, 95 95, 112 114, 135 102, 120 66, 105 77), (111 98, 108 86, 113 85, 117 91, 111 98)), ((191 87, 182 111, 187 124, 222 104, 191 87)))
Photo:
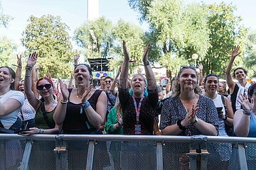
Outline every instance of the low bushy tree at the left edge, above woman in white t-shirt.
MULTIPOLYGON (((16 45, 8 38, 0 38, 0 66, 11 66, 9 63, 9 56, 16 50, 16 45)), ((12 63, 16 64, 16 62, 12 63)))

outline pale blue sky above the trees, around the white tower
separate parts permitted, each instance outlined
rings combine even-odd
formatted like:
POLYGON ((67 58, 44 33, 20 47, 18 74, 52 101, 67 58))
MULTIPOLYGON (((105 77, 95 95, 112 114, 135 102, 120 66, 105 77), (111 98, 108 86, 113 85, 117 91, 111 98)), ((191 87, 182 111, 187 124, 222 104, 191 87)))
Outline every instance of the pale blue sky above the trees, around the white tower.
MULTIPOLYGON (((62 21, 70 27, 70 35, 73 35, 75 28, 78 28, 86 21, 86 0, 0 0, 4 8, 4 13, 14 17, 9 23, 8 28, 0 28, 0 37, 6 37, 14 40, 21 45, 21 33, 26 27, 28 17, 33 14, 36 17, 45 14, 60 16, 62 21)), ((256 30, 256 1, 253 0, 224 0, 226 3, 231 2, 237 6, 236 15, 242 16, 242 23, 246 27, 256 30)), ((191 2, 200 2, 199 0, 184 0, 185 4, 191 2)), ((203 1, 204 3, 220 3, 219 0, 203 1)), ((109 18, 116 23, 119 18, 129 23, 140 26, 138 21, 139 13, 129 8, 127 0, 100 0, 100 16, 109 18)), ((146 29, 144 24, 142 28, 146 29)))

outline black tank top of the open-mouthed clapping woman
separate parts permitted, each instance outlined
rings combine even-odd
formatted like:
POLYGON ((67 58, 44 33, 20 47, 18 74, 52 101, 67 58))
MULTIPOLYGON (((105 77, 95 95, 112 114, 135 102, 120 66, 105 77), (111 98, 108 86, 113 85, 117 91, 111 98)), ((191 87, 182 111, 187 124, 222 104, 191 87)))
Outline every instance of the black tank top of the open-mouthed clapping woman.
MULTIPOLYGON (((63 132, 69 134, 91 134, 94 131, 97 131, 97 128, 92 127, 90 124, 85 110, 82 109, 82 113, 80 113, 80 108, 82 103, 72 103, 70 102, 70 93, 72 89, 68 89, 68 103, 67 110, 65 115, 65 120, 63 123, 63 132)), ((97 99, 99 98, 101 90, 96 90, 94 94, 89 98, 90 106, 96 111, 97 99)))

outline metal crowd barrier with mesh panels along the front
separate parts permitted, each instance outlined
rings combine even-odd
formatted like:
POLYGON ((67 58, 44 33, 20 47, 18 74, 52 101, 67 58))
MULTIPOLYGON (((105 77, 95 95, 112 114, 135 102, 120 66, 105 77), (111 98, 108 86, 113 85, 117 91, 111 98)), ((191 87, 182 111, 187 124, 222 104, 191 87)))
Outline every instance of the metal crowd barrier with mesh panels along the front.
POLYGON ((256 169, 256 138, 0 134, 1 169, 256 169))

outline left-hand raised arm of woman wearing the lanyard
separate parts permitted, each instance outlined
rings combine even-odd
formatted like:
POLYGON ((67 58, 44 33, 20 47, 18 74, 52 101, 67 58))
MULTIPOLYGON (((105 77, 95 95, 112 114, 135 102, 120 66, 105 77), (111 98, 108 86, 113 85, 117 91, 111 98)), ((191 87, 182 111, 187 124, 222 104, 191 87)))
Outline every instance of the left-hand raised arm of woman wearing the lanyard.
POLYGON ((129 71, 129 53, 127 51, 127 47, 125 42, 123 41, 123 50, 124 50, 124 62, 122 64, 122 71, 120 73, 120 89, 127 89, 127 81, 128 81, 128 71, 129 71))

